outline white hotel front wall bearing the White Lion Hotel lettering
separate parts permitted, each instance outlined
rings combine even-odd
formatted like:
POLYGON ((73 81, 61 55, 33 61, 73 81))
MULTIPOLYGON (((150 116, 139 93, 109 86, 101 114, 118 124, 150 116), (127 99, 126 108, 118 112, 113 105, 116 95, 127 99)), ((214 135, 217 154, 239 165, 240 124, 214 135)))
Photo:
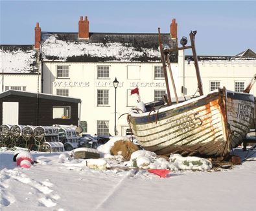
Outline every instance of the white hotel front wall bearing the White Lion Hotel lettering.
MULTIPOLYGON (((97 133, 97 120, 110 121, 110 134, 114 134, 115 125, 115 88, 112 82, 115 77, 119 81, 117 88, 117 130, 124 135, 124 128, 129 128, 126 116, 119 116, 129 112, 137 104, 137 95, 130 95, 130 90, 139 87, 141 101, 154 101, 154 90, 165 90, 165 79, 154 79, 154 66, 161 63, 64 63, 69 65, 69 79, 56 79, 56 66, 61 63, 43 63, 43 92, 56 94, 57 88, 68 88, 70 97, 82 99, 81 121, 87 121, 87 132, 97 133), (110 78, 97 79, 97 66, 109 65, 110 78), (131 66, 137 66, 137 75, 128 72, 131 66), (132 79, 130 79, 130 78, 132 79), (80 84, 79 84, 80 83, 80 84), (97 90, 110 90, 109 106, 97 106, 97 90), (132 104, 132 105, 131 105, 132 104), (130 106, 129 106, 130 105, 130 106)), ((178 81, 178 63, 172 64, 174 80, 178 81)), ((170 81, 170 80, 169 80, 170 81)), ((171 86, 171 83, 169 82, 171 86)), ((172 88, 171 94, 174 97, 172 88)))

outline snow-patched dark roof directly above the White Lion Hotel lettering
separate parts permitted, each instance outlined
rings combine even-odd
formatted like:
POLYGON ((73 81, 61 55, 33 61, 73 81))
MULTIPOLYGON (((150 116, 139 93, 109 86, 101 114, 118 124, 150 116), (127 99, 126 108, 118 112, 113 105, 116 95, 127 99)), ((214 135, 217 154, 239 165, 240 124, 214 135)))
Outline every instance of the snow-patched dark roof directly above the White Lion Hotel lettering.
MULTIPOLYGON (((176 46, 170 34, 161 34, 163 43, 176 46)), ((78 33, 41 32, 43 61, 69 62, 161 62, 158 34, 90 33, 78 39, 78 33)), ((178 54, 170 57, 178 62, 178 54)))

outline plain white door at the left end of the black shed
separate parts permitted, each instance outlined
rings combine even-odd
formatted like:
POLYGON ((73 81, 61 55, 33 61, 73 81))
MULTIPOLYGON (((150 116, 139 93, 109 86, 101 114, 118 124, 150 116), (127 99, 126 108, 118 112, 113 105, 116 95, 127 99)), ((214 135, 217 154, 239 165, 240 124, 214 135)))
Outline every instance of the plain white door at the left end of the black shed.
POLYGON ((19 102, 3 102, 3 124, 19 124, 19 102))

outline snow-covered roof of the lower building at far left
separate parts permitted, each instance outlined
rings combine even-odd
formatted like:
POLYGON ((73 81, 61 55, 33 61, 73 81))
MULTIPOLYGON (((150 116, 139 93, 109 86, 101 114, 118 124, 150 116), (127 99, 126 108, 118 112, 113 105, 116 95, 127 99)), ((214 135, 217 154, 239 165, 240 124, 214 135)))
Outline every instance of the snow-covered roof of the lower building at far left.
POLYGON ((38 72, 37 51, 34 45, 1 45, 0 69, 8 74, 33 74, 38 72))

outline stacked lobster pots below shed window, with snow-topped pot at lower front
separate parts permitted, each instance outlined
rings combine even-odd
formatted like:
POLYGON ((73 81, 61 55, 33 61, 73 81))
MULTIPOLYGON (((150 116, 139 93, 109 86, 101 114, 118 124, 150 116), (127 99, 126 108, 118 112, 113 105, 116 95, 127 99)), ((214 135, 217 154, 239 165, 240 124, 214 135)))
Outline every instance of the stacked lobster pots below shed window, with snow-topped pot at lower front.
POLYGON ((41 151, 64 151, 64 145, 59 141, 59 132, 56 126, 37 126, 34 128, 34 137, 38 141, 41 151))

